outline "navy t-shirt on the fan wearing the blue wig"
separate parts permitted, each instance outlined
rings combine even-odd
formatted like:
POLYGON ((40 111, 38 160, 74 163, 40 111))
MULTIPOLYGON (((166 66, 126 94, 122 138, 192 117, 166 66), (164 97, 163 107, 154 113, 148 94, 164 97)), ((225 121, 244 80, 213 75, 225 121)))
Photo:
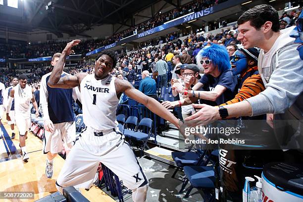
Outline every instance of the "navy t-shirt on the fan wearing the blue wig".
POLYGON ((209 91, 213 91, 217 85, 221 85, 226 88, 226 91, 224 91, 223 94, 215 101, 218 105, 234 99, 237 94, 237 76, 234 76, 231 70, 222 72, 217 78, 204 74, 199 82, 204 84, 204 87, 206 87, 204 89, 209 91))

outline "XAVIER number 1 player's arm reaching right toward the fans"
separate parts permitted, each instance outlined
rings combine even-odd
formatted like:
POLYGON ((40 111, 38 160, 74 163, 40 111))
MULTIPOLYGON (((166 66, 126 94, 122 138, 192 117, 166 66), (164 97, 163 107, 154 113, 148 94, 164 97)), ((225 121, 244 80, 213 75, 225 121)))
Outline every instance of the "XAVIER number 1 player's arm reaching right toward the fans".
POLYGON ((160 102, 146 96, 142 92, 135 89, 128 81, 116 79, 115 88, 117 94, 124 92, 129 98, 144 104, 153 113, 157 114, 158 116, 161 116, 165 120, 168 120, 169 122, 174 124, 178 129, 180 129, 181 126, 179 120, 170 111, 168 111, 164 106, 162 106, 160 102))

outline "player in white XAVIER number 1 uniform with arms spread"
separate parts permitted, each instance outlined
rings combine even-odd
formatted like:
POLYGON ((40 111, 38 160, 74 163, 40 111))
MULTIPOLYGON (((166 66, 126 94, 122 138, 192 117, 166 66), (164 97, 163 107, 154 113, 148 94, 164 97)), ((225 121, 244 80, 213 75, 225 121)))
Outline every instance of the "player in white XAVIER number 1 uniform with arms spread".
POLYGON ((80 40, 74 40, 67 44, 48 81, 48 85, 55 88, 80 86, 83 120, 86 125, 66 158, 56 187, 60 192, 68 186, 89 189, 99 162, 102 162, 132 190, 134 202, 145 202, 147 177, 117 127, 115 114, 119 97, 125 93, 178 128, 181 125, 158 101, 136 90, 128 81, 108 75, 116 65, 116 59, 111 53, 104 53, 96 58, 95 74, 78 73, 61 77, 65 57, 70 54, 71 48, 79 43, 80 40))

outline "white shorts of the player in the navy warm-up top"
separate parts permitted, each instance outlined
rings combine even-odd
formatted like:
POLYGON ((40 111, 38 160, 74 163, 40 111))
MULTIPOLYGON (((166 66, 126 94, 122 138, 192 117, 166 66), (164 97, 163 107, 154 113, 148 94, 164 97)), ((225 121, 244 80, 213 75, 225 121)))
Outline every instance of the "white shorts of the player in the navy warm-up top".
POLYGON ((64 146, 65 151, 71 150, 76 141, 75 121, 55 123, 53 127, 52 133, 44 132, 43 152, 62 152, 62 146, 64 146))

